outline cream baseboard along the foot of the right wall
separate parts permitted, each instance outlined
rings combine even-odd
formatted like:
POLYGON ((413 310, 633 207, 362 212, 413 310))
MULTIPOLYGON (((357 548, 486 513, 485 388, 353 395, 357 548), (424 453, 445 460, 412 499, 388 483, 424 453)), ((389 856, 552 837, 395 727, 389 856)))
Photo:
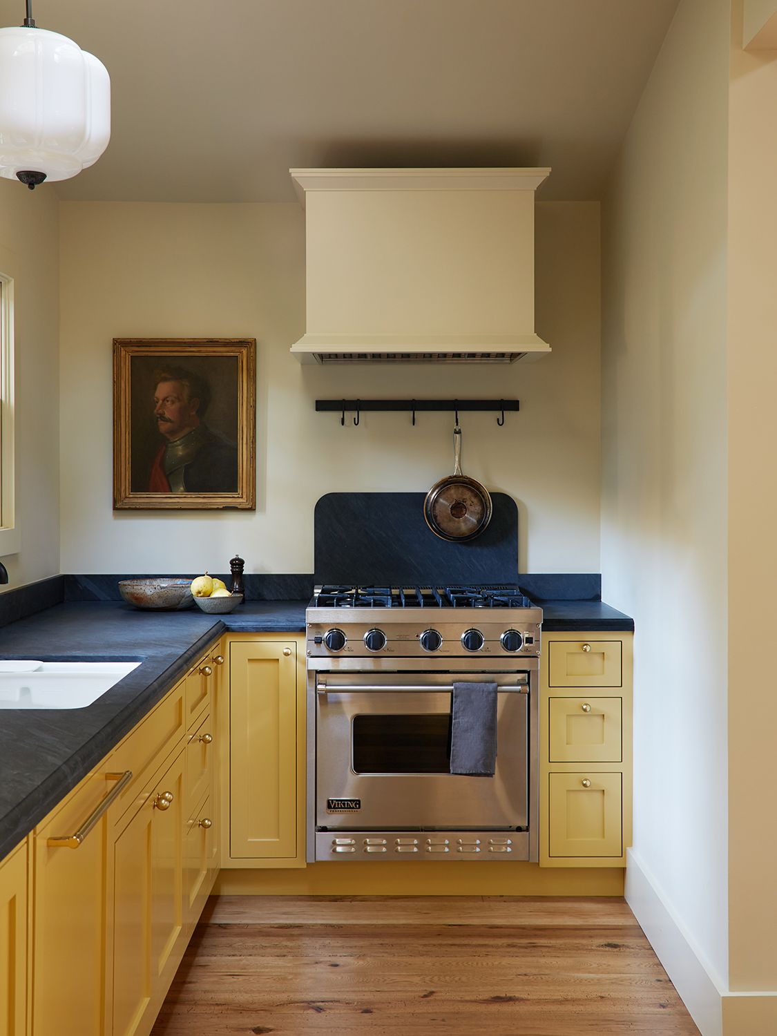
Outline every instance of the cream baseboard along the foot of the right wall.
POLYGON ((701 1036, 774 1036, 777 992, 731 992, 702 963, 633 850, 627 850, 626 901, 701 1036))

